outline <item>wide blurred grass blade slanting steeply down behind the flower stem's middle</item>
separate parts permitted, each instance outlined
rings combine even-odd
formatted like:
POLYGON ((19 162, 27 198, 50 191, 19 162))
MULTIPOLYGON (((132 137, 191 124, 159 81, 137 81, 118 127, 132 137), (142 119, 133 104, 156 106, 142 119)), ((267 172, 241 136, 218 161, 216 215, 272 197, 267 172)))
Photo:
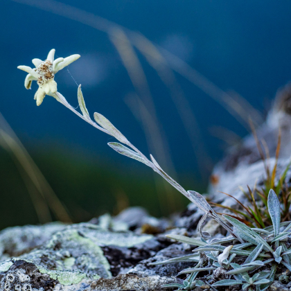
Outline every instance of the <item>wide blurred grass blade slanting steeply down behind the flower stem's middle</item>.
MULTIPOLYGON (((128 75, 130 76, 132 85, 134 85, 136 92, 143 100, 143 102, 141 102, 139 97, 136 96, 136 100, 139 105, 139 114, 134 114, 134 116, 137 120, 140 120, 143 125, 143 131, 145 132, 148 149, 150 152, 154 152, 155 155, 160 157, 161 163, 164 164, 166 171, 173 173, 174 177, 177 177, 174 164, 170 157, 170 150, 166 136, 162 136, 161 134, 163 130, 161 129, 161 125, 159 125, 155 103, 153 102, 150 87, 141 66, 141 62, 139 62, 139 58, 137 58, 132 44, 130 44, 130 41, 127 39, 127 36, 121 28, 112 28, 109 38, 121 56, 121 60, 123 61, 123 65, 127 70, 128 75)), ((136 107, 132 106, 132 104, 127 105, 129 105, 133 113, 136 111, 136 107)), ((169 203, 167 205, 170 206, 168 211, 177 211, 181 205, 179 199, 175 202, 175 194, 173 193, 172 188, 168 186, 168 183, 163 182, 163 184, 165 188, 164 192, 166 192, 166 195, 168 196, 167 199, 169 203)), ((160 188, 159 182, 157 181, 156 186, 157 188, 160 188)), ((162 193, 163 191, 157 192, 162 193)), ((161 201, 163 199, 164 198, 161 197, 161 201)), ((166 207, 163 206, 161 209, 163 214, 166 214, 166 207)))

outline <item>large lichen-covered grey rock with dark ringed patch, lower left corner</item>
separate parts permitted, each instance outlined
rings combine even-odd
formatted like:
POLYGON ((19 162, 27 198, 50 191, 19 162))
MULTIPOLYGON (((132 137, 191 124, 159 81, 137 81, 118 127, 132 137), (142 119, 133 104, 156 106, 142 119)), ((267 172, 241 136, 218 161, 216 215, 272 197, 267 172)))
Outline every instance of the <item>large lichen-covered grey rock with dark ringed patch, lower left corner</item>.
MULTIPOLYGON (((139 249, 145 248, 147 241, 152 248, 159 245, 157 241, 150 242, 150 235, 136 235, 131 231, 106 231, 89 223, 62 228, 62 231, 55 232, 41 247, 0 263, 1 290, 5 286, 10 286, 11 290, 20 288, 19 290, 28 291, 33 288, 53 290, 54 287, 57 288, 55 290, 62 290, 63 286, 69 285, 82 285, 85 288, 94 279, 112 277, 102 246, 118 245, 139 249)), ((23 232, 17 230, 21 238, 23 232)), ((15 237, 15 241, 19 238, 15 237)))

